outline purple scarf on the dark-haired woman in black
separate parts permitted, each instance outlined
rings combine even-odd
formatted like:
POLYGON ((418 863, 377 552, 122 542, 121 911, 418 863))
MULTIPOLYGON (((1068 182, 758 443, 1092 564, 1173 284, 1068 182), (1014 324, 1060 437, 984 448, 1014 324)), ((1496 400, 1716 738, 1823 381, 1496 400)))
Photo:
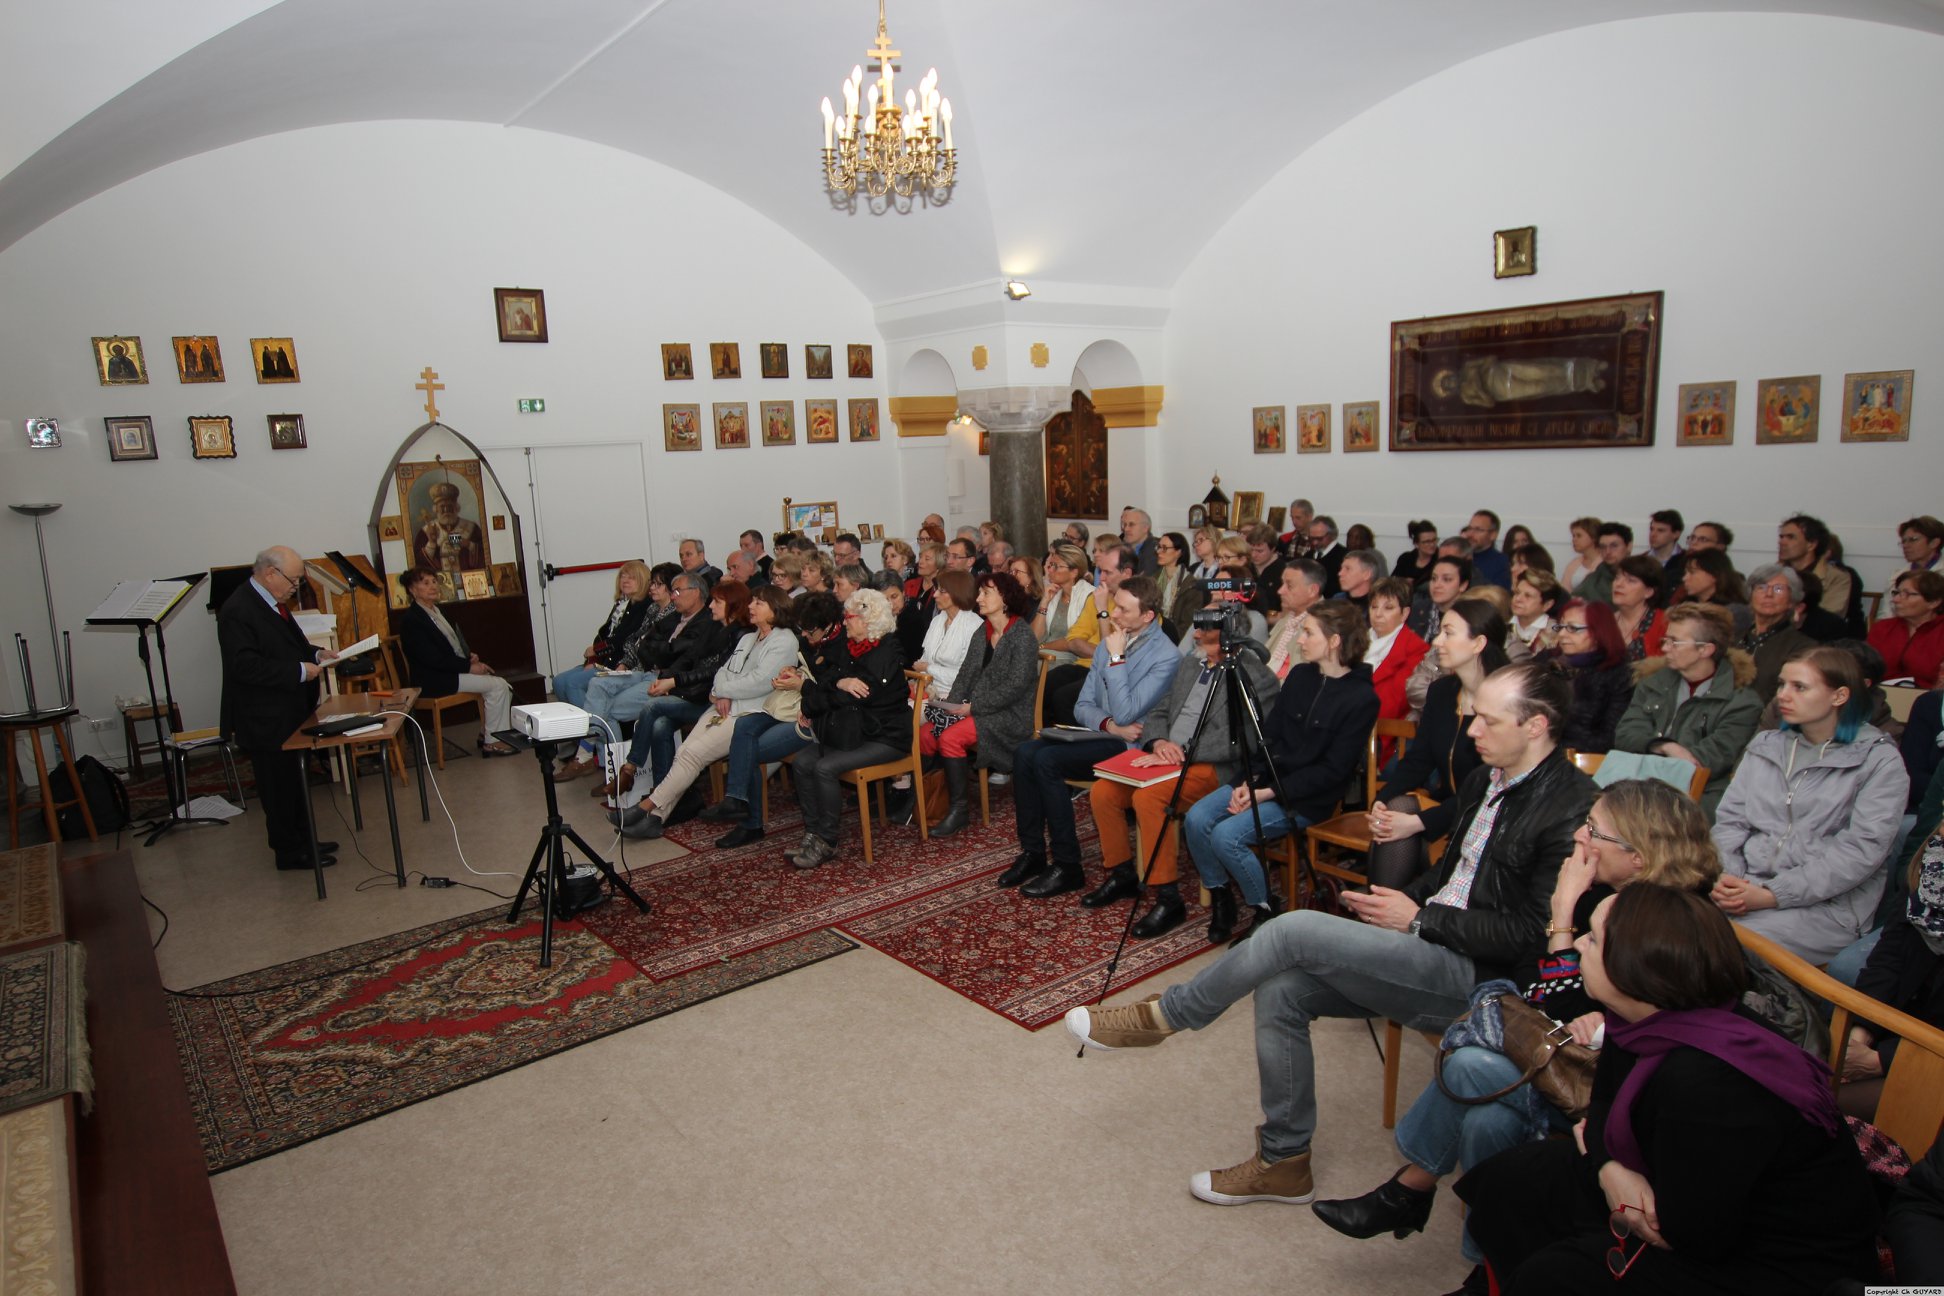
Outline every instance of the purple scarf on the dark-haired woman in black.
POLYGON ((1623 1022, 1608 1012, 1606 1040, 1639 1059, 1606 1113, 1604 1131, 1608 1154, 1635 1174, 1647 1174, 1647 1160, 1633 1137, 1633 1100, 1641 1096, 1660 1059, 1680 1047, 1718 1057, 1787 1102, 1804 1121, 1820 1125, 1823 1133, 1835 1135, 1841 1129, 1835 1092, 1829 1088, 1829 1067, 1814 1053, 1804 1053, 1773 1030, 1728 1008, 1654 1012, 1639 1022, 1623 1022))

